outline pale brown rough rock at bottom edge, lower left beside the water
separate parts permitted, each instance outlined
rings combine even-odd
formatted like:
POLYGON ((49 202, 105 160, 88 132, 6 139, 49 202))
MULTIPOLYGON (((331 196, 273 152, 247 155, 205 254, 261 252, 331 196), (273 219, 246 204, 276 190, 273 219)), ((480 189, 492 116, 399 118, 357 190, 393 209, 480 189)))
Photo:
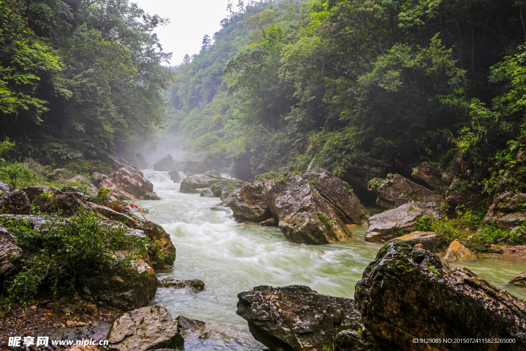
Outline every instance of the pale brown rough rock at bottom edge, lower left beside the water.
POLYGON ((179 333, 178 320, 170 316, 161 304, 120 316, 115 320, 107 340, 110 350, 119 351, 179 349, 185 343, 179 333))

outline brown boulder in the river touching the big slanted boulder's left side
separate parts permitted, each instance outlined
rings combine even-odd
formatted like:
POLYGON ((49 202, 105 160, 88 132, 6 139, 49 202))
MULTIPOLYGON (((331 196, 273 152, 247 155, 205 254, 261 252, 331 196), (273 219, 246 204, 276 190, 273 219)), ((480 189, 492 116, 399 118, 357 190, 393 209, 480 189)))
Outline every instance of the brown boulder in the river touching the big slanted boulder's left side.
POLYGON ((262 222, 271 218, 272 214, 262 196, 262 190, 274 182, 271 179, 262 179, 254 183, 245 183, 238 192, 232 194, 230 208, 234 212, 234 218, 251 222, 262 222))

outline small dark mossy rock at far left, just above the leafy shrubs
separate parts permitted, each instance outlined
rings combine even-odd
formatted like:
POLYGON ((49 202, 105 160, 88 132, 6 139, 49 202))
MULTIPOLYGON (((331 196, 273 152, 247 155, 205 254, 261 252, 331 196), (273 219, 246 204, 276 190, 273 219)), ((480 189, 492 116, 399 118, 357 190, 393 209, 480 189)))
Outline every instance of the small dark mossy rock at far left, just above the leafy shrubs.
POLYGON ((59 190, 52 186, 37 185, 22 189, 32 204, 38 206, 41 212, 56 212, 63 210, 66 213, 75 208, 87 208, 83 194, 76 191, 59 190))

